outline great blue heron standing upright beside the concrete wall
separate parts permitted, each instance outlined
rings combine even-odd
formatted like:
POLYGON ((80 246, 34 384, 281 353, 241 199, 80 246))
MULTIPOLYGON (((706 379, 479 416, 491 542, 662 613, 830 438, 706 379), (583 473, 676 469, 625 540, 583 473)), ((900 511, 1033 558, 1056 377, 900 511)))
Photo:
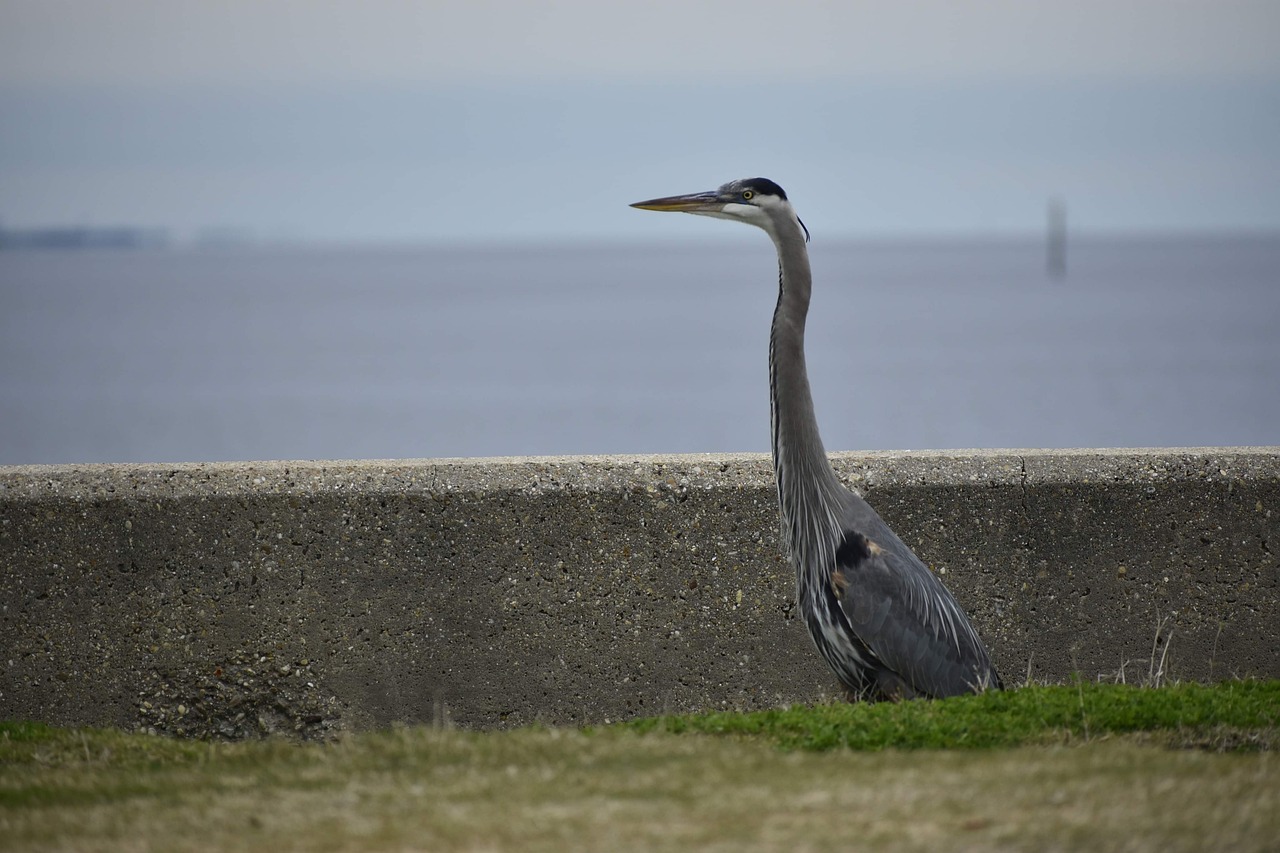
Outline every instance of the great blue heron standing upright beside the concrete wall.
POLYGON ((946 587, 827 460, 809 393, 809 231, 767 178, 631 205, 763 228, 778 250, 769 334, 769 407, 782 539, 818 652, 850 698, 946 697, 1001 686, 969 617, 946 587))

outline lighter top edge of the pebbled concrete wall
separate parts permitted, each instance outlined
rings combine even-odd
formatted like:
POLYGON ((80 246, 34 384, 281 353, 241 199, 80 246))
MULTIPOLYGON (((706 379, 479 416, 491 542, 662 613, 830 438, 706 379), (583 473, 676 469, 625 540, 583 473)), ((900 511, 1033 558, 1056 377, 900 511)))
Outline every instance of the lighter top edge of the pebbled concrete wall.
MULTIPOLYGON (((1280 446, 1183 448, 841 451, 854 488, 982 482, 1170 482, 1280 478, 1280 446)), ((0 466, 0 501, 177 498, 229 493, 609 491, 772 484, 765 453, 0 466)))

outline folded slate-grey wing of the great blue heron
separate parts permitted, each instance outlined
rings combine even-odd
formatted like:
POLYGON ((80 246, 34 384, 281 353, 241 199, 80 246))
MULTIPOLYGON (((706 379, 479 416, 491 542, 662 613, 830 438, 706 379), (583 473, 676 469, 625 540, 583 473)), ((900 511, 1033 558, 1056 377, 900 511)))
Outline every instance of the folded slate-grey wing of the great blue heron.
MULTIPOLYGON (((868 507, 869 511, 869 507, 868 507)), ((836 552, 832 590, 854 633, 914 693, 945 697, 998 686, 964 610, 874 514, 836 552)))

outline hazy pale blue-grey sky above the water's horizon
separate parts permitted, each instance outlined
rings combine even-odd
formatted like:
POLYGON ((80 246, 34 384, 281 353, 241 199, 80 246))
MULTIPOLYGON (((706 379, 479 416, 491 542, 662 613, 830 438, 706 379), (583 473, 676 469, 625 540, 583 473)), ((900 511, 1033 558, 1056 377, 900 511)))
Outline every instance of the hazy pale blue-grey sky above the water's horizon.
POLYGON ((764 174, 837 236, 1274 229, 1277 45, 1275 1, 0 0, 0 220, 643 240, 764 174))

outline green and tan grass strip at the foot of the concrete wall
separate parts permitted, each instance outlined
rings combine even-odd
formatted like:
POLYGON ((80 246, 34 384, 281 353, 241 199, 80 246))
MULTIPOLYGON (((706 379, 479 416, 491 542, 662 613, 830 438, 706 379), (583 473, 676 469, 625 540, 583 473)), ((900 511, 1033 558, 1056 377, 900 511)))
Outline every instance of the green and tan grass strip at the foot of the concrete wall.
POLYGON ((1238 681, 330 743, 9 722, 0 850, 1266 850, 1277 717, 1238 681))

